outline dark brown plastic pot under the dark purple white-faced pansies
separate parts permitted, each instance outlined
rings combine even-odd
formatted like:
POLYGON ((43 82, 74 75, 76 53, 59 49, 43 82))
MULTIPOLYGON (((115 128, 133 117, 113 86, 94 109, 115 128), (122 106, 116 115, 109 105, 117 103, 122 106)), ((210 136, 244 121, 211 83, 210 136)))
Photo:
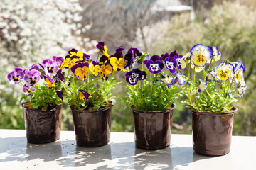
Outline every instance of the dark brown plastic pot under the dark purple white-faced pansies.
POLYGON ((135 146, 139 149, 164 149, 170 145, 173 104, 166 111, 139 111, 132 106, 135 146))

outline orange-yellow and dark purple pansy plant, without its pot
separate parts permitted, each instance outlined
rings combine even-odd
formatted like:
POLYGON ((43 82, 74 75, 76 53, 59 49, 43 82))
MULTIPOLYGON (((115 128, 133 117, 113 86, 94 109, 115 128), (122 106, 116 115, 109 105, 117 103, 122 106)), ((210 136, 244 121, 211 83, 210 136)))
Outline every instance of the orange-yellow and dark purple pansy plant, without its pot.
POLYGON ((118 84, 114 74, 124 71, 127 65, 122 46, 113 55, 108 54, 104 42, 98 42, 96 47, 99 49, 96 60, 82 51, 72 49, 60 66, 65 72, 66 82, 58 95, 78 110, 113 106, 111 90, 118 84))

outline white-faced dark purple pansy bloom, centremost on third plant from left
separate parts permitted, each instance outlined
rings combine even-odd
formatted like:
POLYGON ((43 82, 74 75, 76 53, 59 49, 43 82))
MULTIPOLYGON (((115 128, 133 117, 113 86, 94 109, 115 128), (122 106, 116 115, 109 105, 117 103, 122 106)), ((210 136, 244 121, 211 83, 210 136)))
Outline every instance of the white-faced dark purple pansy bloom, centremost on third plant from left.
POLYGON ((143 64, 146 64, 146 68, 151 74, 158 74, 164 68, 164 63, 161 62, 159 55, 153 55, 150 60, 144 60, 143 64))

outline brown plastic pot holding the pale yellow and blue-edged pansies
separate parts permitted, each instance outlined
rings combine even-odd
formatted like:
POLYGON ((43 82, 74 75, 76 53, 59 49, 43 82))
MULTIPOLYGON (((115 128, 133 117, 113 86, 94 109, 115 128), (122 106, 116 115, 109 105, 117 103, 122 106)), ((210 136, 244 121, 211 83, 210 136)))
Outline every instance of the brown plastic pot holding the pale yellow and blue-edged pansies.
POLYGON ((199 154, 220 156, 230 152, 233 118, 230 113, 209 113, 191 110, 193 150, 199 154))

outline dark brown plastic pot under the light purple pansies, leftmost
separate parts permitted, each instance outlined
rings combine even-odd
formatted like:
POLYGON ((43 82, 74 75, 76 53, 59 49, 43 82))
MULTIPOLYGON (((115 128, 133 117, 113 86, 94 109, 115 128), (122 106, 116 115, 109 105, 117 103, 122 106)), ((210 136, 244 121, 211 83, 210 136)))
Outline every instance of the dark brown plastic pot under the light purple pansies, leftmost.
POLYGON ((22 103, 28 142, 43 144, 60 139, 61 105, 48 111, 25 107, 22 103))

